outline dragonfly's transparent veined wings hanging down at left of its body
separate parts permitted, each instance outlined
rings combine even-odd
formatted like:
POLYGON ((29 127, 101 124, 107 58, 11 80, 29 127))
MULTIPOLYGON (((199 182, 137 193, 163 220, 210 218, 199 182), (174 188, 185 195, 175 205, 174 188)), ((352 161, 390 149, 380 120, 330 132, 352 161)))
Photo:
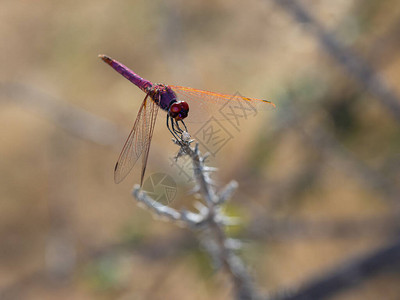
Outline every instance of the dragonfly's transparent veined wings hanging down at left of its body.
MULTIPOLYGON (((114 181, 120 183, 129 174, 136 161, 145 152, 142 163, 147 163, 148 152, 150 149, 151 137, 153 135, 155 120, 157 117, 158 106, 148 95, 140 106, 135 124, 122 148, 114 170, 114 181)), ((142 180, 145 165, 142 165, 142 180)))

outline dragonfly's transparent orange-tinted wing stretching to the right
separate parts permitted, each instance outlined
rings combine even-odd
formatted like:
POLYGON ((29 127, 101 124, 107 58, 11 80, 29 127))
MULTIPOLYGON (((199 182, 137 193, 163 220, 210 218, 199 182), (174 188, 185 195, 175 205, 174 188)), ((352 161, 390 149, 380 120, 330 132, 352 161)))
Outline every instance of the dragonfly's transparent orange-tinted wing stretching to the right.
POLYGON ((271 110, 275 104, 271 101, 248 98, 238 93, 220 94, 197 90, 189 87, 170 85, 178 99, 189 104, 189 115, 185 121, 205 122, 211 116, 217 120, 247 118, 258 111, 271 110))

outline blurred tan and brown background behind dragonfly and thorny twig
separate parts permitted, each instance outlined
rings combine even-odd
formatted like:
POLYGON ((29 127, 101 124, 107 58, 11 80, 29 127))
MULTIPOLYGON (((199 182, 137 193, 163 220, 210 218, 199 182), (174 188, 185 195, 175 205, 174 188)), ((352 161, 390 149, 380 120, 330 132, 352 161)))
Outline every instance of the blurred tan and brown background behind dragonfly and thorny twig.
MULTIPOLYGON (((277 2, 0 3, 1 299, 232 296, 191 232, 136 206, 138 167, 114 184, 144 95, 101 53, 153 82, 276 103, 213 162, 218 182, 239 182, 228 233, 261 292, 295 293, 396 243, 400 5, 277 2)), ((164 123, 148 174, 177 151, 164 123)), ((191 208, 177 185, 172 205, 191 208)), ((399 261, 377 265, 332 299, 399 299, 400 268, 385 267, 399 261)))

